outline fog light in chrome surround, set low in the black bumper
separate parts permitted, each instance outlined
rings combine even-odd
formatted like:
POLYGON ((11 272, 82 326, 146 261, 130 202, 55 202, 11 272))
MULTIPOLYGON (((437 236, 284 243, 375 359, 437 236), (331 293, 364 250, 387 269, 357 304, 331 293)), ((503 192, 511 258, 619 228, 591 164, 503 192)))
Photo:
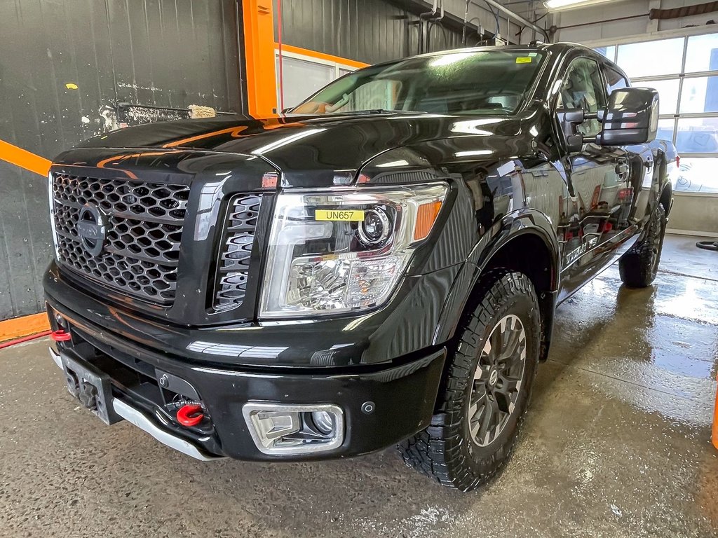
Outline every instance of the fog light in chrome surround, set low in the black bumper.
POLYGON ((248 402, 242 414, 254 444, 264 454, 322 452, 344 440, 344 413, 337 405, 248 402))

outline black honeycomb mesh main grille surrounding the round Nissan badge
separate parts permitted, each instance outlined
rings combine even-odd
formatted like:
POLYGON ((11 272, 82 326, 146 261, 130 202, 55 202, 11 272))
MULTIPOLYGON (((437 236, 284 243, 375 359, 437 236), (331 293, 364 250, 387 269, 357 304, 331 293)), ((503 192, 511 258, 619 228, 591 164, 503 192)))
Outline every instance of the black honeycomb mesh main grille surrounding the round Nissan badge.
POLYGON ((174 302, 190 187, 53 174, 52 194, 62 265, 146 301, 174 302), (105 215, 99 255, 91 254, 78 235, 85 205, 105 215))

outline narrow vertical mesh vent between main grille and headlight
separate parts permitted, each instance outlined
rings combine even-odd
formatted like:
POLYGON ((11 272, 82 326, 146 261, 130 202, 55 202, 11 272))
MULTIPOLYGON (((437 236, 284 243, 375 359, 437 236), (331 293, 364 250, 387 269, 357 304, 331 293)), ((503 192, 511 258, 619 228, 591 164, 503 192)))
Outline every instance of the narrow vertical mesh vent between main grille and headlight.
POLYGON ((220 247, 215 310, 236 308, 244 301, 260 204, 261 195, 256 194, 239 194, 230 200, 220 247))

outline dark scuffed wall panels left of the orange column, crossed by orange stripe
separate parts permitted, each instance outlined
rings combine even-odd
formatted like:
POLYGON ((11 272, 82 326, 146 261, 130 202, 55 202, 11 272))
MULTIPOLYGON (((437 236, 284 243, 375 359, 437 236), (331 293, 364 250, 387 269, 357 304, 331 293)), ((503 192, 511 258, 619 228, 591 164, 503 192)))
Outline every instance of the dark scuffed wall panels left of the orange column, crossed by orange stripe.
MULTIPOLYGON (((116 101, 242 110, 237 9, 236 0, 0 1, 0 139, 52 159, 110 128, 116 101)), ((0 320, 44 308, 51 242, 44 179, 0 160, 0 320)))

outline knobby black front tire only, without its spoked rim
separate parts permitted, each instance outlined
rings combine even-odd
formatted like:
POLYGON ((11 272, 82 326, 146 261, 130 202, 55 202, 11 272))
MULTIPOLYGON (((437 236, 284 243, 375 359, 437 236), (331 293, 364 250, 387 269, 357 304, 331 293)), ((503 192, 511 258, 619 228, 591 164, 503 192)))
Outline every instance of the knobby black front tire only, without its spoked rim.
MULTIPOLYGON (((523 273, 492 270, 480 280, 472 297, 472 306, 467 308, 457 337, 449 344, 447 367, 431 424, 398 446, 407 466, 461 491, 487 483, 508 461, 531 397, 541 331, 536 291, 523 273), (467 406, 472 404, 475 394, 472 391, 477 364, 480 357, 485 360, 485 346, 490 345, 486 342, 507 316, 518 317, 526 336, 523 377, 503 430, 482 446, 472 438, 467 406)), ((501 339, 503 345, 503 335, 501 339)))

